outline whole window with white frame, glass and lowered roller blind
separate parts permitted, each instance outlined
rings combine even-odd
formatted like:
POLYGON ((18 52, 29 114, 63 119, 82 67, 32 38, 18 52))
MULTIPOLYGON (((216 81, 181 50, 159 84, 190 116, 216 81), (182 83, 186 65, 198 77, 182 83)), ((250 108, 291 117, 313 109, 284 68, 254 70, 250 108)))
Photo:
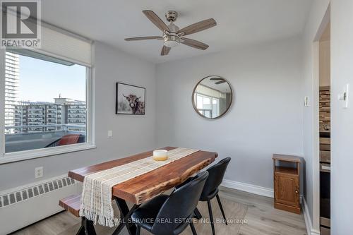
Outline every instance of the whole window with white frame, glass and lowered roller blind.
POLYGON ((0 164, 95 147, 92 42, 45 23, 41 42, 0 50, 0 164))

